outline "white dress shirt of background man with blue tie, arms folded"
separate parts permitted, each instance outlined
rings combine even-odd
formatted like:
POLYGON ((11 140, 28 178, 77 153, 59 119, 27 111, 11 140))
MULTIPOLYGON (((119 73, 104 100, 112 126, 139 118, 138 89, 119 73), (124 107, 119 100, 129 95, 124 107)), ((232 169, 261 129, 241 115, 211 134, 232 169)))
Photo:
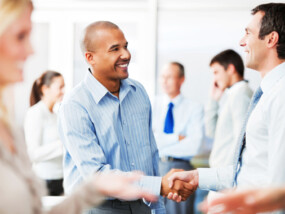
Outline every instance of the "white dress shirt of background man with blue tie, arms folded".
POLYGON ((160 157, 174 157, 189 160, 199 152, 204 139, 203 107, 183 95, 173 100, 166 95, 158 96, 153 103, 153 132, 160 157), (174 107, 173 134, 164 133, 164 122, 168 104, 174 107), (185 138, 179 141, 179 135, 185 138))

